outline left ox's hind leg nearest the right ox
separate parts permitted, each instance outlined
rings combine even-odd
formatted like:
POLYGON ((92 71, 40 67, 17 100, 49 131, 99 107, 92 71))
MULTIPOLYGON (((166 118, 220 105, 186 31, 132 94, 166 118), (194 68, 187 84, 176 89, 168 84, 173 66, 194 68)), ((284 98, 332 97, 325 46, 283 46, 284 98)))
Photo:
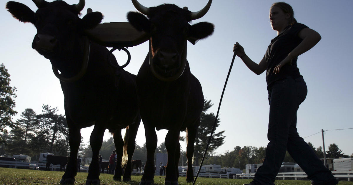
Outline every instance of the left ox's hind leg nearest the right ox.
MULTIPOLYGON (((128 129, 126 129, 125 133, 125 143, 127 140, 127 145, 124 144, 124 153, 125 151, 127 152, 127 162, 126 162, 126 167, 124 170, 124 176, 122 177, 123 181, 131 181, 131 159, 132 159, 132 154, 135 151, 135 140, 136 140, 136 135, 137 135, 137 130, 138 127, 140 126, 141 118, 137 118, 137 122, 134 122, 133 124, 128 126, 128 129), (128 135, 128 137, 126 137, 128 135)), ((125 163, 125 161, 124 161, 125 163)), ((137 174, 137 171, 136 171, 137 174)))

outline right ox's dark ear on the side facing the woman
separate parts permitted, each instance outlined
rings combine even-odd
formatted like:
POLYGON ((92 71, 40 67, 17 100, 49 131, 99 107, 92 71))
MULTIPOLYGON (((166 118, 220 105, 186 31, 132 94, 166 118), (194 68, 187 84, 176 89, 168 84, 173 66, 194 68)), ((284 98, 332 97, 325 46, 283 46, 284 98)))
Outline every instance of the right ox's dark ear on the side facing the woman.
POLYGON ((213 34, 215 25, 208 22, 201 22, 189 27, 189 37, 204 39, 213 34))

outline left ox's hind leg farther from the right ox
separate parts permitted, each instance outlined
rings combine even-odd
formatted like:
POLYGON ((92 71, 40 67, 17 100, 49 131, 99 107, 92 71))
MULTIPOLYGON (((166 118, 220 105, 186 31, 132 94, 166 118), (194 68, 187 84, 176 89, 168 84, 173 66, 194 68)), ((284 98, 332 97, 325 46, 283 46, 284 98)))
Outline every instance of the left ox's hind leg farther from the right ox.
POLYGON ((121 129, 117 129, 113 133, 113 139, 115 143, 115 150, 116 150, 116 165, 115 165, 115 172, 114 172, 114 180, 121 181, 121 160, 123 154, 123 147, 124 147, 124 140, 121 137, 121 129))

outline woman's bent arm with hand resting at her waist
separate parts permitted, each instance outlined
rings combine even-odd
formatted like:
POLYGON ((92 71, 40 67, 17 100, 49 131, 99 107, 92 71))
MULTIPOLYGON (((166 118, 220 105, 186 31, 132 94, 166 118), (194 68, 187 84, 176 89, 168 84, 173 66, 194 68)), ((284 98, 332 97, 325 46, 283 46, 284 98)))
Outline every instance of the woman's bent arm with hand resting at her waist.
POLYGON ((288 56, 283 59, 274 69, 273 73, 279 73, 280 69, 287 63, 291 63, 292 59, 305 53, 306 51, 310 50, 312 47, 314 47, 320 40, 321 36, 318 32, 315 30, 312 30, 310 28, 304 28, 303 30, 300 30, 298 33, 298 37, 303 39, 301 43, 295 47, 291 53, 288 54, 288 56))

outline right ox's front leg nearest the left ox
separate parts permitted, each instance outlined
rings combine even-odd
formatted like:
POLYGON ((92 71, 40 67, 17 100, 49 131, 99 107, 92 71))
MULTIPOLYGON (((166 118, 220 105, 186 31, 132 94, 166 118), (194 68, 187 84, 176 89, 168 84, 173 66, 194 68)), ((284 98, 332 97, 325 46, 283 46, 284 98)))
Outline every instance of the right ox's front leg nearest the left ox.
POLYGON ((157 134, 154 127, 148 127, 147 123, 144 123, 145 137, 146 137, 146 149, 147 149, 147 160, 145 171, 141 178, 140 185, 150 185, 154 183, 155 165, 154 165, 154 154, 157 148, 157 134))

